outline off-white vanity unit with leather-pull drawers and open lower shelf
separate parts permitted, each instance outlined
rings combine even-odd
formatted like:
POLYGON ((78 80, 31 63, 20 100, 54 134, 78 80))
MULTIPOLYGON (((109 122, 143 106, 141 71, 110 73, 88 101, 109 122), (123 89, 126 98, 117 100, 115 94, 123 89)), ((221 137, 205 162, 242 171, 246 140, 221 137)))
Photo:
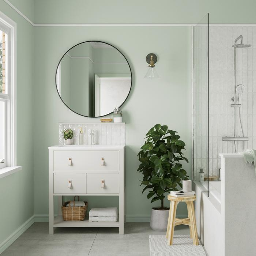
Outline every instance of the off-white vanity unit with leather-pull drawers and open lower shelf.
POLYGON ((119 227, 119 233, 124 234, 124 171, 123 145, 49 147, 49 234, 54 233, 54 227, 119 227), (84 221, 63 221, 62 196, 75 195, 119 196, 118 221, 89 222, 89 211, 84 221), (55 217, 54 196, 59 197, 59 212, 55 212, 55 217))

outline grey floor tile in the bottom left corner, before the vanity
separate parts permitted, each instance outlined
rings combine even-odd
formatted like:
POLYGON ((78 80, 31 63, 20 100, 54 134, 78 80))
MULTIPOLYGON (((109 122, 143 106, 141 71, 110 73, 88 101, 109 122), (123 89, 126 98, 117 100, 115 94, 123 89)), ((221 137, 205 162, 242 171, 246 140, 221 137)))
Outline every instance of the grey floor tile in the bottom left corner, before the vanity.
POLYGON ((1 256, 87 256, 93 240, 16 240, 1 256))

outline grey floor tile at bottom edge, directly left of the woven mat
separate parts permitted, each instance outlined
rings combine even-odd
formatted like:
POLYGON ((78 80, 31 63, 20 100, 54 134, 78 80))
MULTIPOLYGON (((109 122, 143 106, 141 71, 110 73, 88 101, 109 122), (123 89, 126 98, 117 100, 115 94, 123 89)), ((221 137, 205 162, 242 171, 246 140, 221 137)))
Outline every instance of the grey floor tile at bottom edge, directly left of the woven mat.
POLYGON ((148 256, 148 240, 95 240, 89 256, 148 256))

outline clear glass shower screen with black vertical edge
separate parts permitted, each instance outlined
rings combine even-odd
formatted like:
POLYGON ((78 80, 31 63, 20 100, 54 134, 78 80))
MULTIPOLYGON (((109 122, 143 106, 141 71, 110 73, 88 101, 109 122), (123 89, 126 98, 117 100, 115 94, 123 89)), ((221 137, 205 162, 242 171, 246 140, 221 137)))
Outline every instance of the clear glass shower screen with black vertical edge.
MULTIPOLYGON (((208 107, 209 107, 209 14, 193 27, 193 179, 199 181, 199 172, 209 175, 208 107)), ((203 175, 201 176, 201 180, 203 175)))

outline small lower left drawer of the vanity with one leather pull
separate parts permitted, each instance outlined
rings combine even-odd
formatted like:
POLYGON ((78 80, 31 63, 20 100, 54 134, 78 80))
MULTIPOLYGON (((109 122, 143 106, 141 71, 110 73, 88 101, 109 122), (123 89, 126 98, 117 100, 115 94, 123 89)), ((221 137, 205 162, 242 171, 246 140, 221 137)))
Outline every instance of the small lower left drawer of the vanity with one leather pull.
POLYGON ((54 173, 53 193, 86 193, 86 173, 54 173))

